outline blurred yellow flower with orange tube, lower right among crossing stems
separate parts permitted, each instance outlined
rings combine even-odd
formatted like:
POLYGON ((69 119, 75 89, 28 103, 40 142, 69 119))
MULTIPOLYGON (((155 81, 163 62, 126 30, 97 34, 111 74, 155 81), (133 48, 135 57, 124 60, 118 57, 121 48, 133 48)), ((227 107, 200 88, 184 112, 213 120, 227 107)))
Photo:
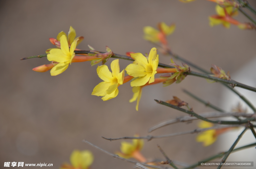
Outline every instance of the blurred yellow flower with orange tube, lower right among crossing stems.
MULTIPOLYGON (((212 123, 206 122, 206 121, 201 121, 198 124, 199 128, 210 128, 213 127, 214 125, 212 123)), ((210 146, 213 144, 216 140, 218 135, 222 134, 223 132, 226 132, 227 130, 230 130, 234 127, 227 127, 227 128, 221 128, 221 129, 212 129, 212 130, 207 130, 204 132, 201 132, 198 134, 196 141, 197 142, 203 142, 204 146, 210 146)))

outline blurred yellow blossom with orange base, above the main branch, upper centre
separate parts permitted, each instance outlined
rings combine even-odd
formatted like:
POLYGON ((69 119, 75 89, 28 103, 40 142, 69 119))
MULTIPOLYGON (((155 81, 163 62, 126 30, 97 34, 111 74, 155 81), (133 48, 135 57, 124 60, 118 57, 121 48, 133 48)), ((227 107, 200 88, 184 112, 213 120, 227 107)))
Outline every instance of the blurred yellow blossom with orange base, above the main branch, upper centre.
POLYGON ((175 24, 170 26, 166 25, 165 22, 158 23, 158 29, 155 29, 151 26, 144 27, 144 39, 153 43, 161 42, 162 44, 166 45, 167 40, 166 36, 172 34, 175 30, 175 24))

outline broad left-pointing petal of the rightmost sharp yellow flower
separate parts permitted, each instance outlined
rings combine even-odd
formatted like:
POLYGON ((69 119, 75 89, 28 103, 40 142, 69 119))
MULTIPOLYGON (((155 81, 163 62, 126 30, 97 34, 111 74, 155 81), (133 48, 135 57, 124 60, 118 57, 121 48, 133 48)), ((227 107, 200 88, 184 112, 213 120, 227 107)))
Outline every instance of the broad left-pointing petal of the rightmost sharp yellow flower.
POLYGON ((143 66, 134 63, 128 65, 125 70, 128 75, 133 77, 143 77, 147 74, 146 69, 143 66))

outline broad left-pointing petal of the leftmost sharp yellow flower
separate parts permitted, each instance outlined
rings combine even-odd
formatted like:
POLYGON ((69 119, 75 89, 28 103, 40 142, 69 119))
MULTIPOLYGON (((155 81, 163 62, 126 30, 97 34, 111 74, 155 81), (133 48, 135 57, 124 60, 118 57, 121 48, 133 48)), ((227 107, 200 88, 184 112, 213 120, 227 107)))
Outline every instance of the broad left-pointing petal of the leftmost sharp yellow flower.
POLYGON ((59 63, 64 63, 70 61, 69 56, 65 55, 61 49, 51 49, 50 53, 47 54, 48 61, 55 61, 59 63))

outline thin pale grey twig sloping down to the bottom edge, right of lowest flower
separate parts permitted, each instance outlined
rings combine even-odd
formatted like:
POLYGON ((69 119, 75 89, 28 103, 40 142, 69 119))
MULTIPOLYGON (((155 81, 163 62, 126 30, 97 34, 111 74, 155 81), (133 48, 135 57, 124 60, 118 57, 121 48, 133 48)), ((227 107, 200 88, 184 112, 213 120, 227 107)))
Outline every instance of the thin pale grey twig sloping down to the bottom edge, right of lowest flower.
POLYGON ((115 159, 123 160, 125 162, 129 162, 129 163, 133 163, 133 164, 140 164, 142 166, 151 167, 151 168, 170 169, 170 168, 167 168, 167 167, 160 167, 160 166, 155 166, 155 165, 142 164, 142 163, 137 163, 135 161, 127 160, 127 159, 124 159, 124 158, 122 158, 122 157, 120 157, 120 156, 118 156, 116 154, 112 154, 112 153, 110 153, 110 152, 108 152, 106 150, 103 150, 102 148, 100 148, 98 146, 95 146, 94 144, 90 143, 89 141, 83 140, 83 142, 89 144, 90 146, 92 146, 92 147, 94 147, 94 148, 96 148, 96 149, 98 149, 100 151, 102 151, 103 153, 106 153, 106 154, 112 156, 115 159))

